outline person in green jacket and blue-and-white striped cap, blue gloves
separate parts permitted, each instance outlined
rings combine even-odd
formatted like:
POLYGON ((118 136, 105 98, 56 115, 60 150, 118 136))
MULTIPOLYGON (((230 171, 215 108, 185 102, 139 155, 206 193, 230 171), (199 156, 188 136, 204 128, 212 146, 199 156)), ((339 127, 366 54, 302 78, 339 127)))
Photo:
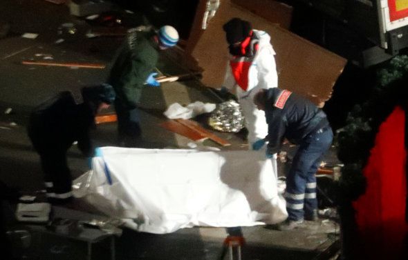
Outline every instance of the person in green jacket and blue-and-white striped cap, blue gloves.
POLYGON ((159 87, 154 72, 158 51, 178 42, 178 32, 163 26, 155 32, 131 29, 113 63, 108 83, 116 92, 115 110, 118 116, 120 146, 135 147, 141 134, 138 103, 145 85, 159 87))

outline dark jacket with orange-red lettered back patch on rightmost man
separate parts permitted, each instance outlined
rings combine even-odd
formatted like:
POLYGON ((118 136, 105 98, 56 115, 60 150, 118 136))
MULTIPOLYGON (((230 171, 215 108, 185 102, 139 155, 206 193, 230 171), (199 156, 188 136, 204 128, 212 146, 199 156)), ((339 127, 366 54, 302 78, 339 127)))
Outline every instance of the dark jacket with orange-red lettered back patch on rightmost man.
POLYGON ((288 90, 269 88, 265 104, 268 152, 279 152, 284 138, 299 144, 313 130, 328 126, 326 114, 308 99, 288 90))

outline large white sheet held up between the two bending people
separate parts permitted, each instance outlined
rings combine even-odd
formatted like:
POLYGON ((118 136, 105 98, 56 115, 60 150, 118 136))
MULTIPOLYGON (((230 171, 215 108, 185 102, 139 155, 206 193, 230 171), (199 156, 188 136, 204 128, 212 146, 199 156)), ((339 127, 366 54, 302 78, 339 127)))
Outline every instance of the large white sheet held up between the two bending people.
POLYGON ((288 215, 272 163, 259 151, 104 147, 74 194, 141 232, 272 224, 288 215))

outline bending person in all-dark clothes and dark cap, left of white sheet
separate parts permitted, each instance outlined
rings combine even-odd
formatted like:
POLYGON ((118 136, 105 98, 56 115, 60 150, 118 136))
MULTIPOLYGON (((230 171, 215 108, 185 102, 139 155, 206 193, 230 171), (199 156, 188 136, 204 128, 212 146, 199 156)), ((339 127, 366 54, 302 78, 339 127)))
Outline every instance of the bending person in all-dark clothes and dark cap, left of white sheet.
POLYGON ((77 141, 86 157, 93 156, 89 130, 95 127, 95 115, 113 103, 115 92, 108 84, 84 87, 82 98, 83 103, 77 104, 71 92, 60 92, 30 114, 28 137, 39 154, 50 203, 72 199, 66 152, 77 141))

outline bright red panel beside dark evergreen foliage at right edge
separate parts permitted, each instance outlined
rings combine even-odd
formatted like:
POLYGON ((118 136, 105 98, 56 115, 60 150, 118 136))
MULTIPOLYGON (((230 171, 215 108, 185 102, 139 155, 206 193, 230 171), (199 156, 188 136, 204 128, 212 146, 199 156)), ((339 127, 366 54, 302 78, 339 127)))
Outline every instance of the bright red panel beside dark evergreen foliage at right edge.
POLYGON ((395 108, 382 122, 363 173, 367 190, 353 203, 364 259, 402 259, 407 196, 405 112, 395 108))

